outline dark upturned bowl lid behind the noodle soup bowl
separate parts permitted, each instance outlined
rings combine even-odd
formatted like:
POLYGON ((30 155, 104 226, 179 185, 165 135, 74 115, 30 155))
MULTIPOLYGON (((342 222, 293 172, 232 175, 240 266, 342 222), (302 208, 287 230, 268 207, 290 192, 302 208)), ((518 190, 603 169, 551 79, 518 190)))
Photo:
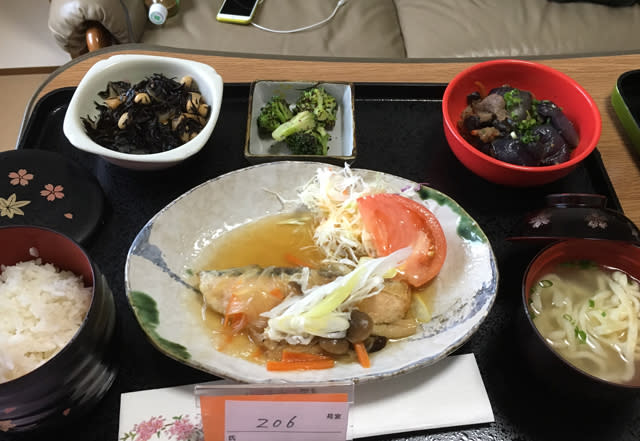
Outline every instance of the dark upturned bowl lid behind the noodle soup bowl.
POLYGON ((606 196, 587 193, 555 193, 546 206, 526 214, 512 241, 601 239, 640 245, 640 230, 624 214, 606 208, 606 196))

